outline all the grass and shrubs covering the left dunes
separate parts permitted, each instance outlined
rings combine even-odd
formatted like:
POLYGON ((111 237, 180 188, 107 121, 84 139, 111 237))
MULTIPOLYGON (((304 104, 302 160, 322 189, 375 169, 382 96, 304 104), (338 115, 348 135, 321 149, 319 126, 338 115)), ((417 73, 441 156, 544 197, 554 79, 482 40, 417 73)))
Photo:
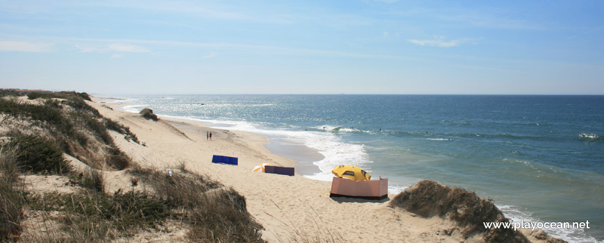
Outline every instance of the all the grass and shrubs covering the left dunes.
POLYGON ((136 135, 88 105, 86 93, 1 91, 0 241, 129 241, 141 231, 169 231, 165 224, 178 221, 189 228, 190 242, 265 242, 244 196, 232 188, 184 163, 169 175, 133 162, 109 131, 140 144, 136 135), (119 170, 131 174, 132 190, 108 194, 104 174, 119 170), (73 190, 31 192, 27 175, 65 178, 73 190))

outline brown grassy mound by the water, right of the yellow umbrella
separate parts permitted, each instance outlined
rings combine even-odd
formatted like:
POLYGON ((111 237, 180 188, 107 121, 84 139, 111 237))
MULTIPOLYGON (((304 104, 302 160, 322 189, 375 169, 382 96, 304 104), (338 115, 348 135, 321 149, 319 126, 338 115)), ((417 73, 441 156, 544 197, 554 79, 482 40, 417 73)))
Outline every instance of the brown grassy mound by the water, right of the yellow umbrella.
POLYGON ((482 233, 487 242, 528 242, 525 236, 510 228, 485 228, 483 222, 505 222, 509 219, 491 200, 461 188, 451 188, 434 181, 419 181, 396 195, 390 206, 423 217, 436 215, 456 221, 462 227, 464 237, 482 233))

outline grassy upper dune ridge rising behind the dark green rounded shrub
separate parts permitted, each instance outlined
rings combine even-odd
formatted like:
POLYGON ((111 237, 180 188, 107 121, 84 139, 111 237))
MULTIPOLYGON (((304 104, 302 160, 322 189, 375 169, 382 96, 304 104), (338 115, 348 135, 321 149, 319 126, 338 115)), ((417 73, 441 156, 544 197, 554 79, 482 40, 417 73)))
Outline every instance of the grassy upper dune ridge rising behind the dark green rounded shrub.
MULTIPOLYGON (((6 134, 9 137, 24 137, 22 133, 39 137, 30 139, 25 136, 28 142, 26 144, 33 142, 39 148, 55 151, 49 145, 54 143, 63 152, 97 169, 104 167, 104 164, 115 169, 126 169, 131 164, 131 158, 117 147, 108 129, 123 134, 126 140, 138 143, 136 135, 127 126, 101 116, 98 110, 86 103, 85 99, 90 99, 87 94, 31 92, 28 98, 41 99, 41 104, 15 97, 0 99, 0 112, 12 118, 13 122, 9 126, 15 128, 6 134), (39 129, 21 124, 31 124, 39 129), (48 142, 41 142, 42 140, 48 142)), ((59 158, 55 156, 53 159, 59 158)))

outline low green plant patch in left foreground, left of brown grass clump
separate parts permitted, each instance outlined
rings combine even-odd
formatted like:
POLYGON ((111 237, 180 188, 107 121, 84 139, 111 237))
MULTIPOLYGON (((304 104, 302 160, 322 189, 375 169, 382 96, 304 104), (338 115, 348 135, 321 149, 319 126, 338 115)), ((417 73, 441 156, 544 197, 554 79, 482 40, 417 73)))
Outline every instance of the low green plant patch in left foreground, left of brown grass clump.
MULTIPOLYGON (((27 197, 28 206, 62 224, 56 235, 37 235, 56 242, 74 239, 95 239, 106 242, 132 235, 138 229, 154 228, 170 216, 169 205, 156 196, 143 192, 116 192, 112 196, 102 192, 85 191, 80 194, 47 193, 27 197)), ((88 242, 88 240, 85 240, 88 242)))

